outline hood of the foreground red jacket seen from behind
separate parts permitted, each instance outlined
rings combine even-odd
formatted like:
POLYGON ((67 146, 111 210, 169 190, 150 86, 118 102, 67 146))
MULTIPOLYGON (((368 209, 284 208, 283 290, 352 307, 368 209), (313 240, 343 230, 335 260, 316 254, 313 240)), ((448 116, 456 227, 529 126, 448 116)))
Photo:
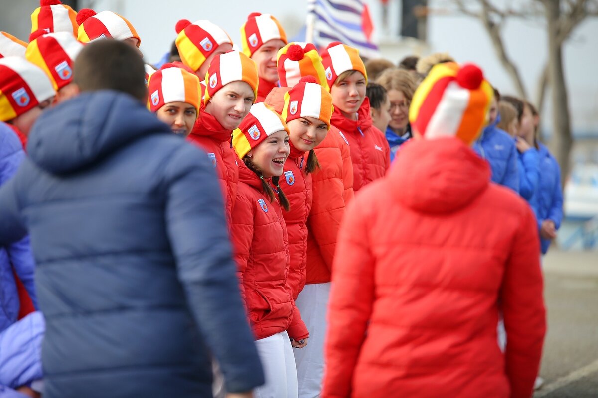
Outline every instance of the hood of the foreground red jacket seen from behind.
POLYGON ((423 213, 448 213, 484 192, 490 167, 458 138, 412 140, 396 156, 388 180, 404 206, 423 213))

